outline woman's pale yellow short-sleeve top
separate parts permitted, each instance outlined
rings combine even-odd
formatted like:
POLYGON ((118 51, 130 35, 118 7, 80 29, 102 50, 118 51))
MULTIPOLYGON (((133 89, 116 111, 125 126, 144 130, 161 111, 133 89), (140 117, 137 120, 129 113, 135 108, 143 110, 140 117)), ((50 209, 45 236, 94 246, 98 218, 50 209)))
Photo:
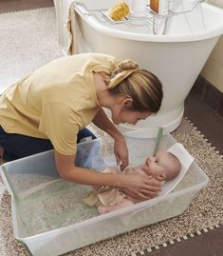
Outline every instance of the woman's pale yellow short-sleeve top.
POLYGON ((0 97, 0 126, 8 133, 49 139, 61 154, 76 152, 77 133, 99 110, 92 71, 110 73, 115 57, 76 54, 35 70, 0 97))

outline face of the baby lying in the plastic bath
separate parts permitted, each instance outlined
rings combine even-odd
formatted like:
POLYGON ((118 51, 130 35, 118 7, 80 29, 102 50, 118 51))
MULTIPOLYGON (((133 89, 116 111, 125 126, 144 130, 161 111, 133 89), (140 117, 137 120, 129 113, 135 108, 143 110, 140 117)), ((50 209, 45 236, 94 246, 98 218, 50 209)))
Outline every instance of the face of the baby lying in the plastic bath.
POLYGON ((153 177, 167 176, 167 172, 171 167, 171 161, 167 152, 159 151, 154 156, 146 158, 142 169, 153 177))

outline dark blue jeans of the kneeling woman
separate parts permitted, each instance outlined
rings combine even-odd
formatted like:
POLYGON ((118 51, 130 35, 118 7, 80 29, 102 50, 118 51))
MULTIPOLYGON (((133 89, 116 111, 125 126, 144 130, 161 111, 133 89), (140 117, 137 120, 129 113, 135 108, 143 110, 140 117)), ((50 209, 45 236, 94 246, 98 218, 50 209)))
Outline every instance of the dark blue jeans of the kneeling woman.
MULTIPOLYGON (((96 139, 89 129, 84 128, 78 133, 77 143, 85 137, 96 139)), ((7 133, 2 127, 0 127, 0 146, 4 148, 3 159, 7 162, 53 149, 50 140, 7 133)))

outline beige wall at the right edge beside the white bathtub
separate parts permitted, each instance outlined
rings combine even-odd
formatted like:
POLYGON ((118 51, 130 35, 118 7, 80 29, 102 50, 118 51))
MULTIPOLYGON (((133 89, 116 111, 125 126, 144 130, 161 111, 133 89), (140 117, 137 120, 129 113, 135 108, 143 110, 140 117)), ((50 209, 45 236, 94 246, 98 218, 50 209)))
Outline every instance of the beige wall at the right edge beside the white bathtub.
MULTIPOLYGON (((223 0, 206 0, 207 3, 223 8, 223 0)), ((216 89, 223 92, 223 36, 220 37, 201 75, 216 89)))

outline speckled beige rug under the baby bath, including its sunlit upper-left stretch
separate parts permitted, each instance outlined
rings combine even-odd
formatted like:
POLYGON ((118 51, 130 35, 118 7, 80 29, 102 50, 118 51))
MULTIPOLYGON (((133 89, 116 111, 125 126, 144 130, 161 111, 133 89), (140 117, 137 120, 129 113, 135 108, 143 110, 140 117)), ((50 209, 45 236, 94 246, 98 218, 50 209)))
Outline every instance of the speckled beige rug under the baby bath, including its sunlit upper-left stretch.
MULTIPOLYGON (((0 14, 0 35, 0 47, 4 49, 4 52, 0 50, 1 88, 14 82, 27 70, 36 69, 61 55, 52 8, 0 14)), ((208 187, 176 218, 77 249, 65 256, 129 255, 222 222, 222 156, 186 119, 173 136, 207 173, 210 178, 208 187)), ((13 238, 10 197, 1 180, 0 255, 29 255, 26 247, 13 238)))

